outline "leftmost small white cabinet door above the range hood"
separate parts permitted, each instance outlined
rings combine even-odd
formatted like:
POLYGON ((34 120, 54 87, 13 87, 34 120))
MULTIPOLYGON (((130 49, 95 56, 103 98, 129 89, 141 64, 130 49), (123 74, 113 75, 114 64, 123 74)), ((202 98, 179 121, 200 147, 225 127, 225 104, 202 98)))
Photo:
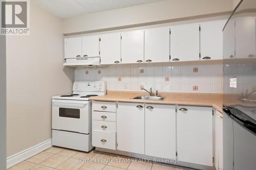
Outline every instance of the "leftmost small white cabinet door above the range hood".
POLYGON ((73 37, 65 38, 65 58, 81 57, 82 38, 73 37))

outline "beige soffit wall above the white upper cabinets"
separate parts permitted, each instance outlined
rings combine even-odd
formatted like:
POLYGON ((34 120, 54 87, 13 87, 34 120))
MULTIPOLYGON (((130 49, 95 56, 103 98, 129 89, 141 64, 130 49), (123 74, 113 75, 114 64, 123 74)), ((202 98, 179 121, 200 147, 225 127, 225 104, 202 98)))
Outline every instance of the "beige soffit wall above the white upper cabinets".
POLYGON ((232 0, 166 0, 63 20, 63 33, 139 25, 232 10, 232 0))

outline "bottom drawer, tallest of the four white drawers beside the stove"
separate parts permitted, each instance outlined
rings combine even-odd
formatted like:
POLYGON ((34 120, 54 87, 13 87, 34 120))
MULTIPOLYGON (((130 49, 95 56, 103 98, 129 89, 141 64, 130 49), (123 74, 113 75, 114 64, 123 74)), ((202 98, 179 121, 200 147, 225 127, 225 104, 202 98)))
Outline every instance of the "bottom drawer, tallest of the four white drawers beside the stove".
POLYGON ((94 147, 116 150, 116 133, 93 131, 92 144, 94 147))

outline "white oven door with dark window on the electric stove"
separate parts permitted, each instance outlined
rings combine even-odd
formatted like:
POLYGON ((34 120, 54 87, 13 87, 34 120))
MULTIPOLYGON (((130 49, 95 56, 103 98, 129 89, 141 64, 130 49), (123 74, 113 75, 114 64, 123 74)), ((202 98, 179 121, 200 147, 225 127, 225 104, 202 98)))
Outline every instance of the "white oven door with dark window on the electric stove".
POLYGON ((52 100, 52 129, 90 133, 90 101, 52 100))

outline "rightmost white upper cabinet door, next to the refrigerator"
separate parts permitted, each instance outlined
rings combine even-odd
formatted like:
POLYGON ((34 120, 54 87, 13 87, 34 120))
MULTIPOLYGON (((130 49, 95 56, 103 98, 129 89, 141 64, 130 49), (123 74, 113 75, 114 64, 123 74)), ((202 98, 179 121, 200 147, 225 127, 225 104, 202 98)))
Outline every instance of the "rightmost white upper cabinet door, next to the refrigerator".
POLYGON ((201 60, 221 60, 223 58, 222 30, 226 20, 200 24, 201 60))

